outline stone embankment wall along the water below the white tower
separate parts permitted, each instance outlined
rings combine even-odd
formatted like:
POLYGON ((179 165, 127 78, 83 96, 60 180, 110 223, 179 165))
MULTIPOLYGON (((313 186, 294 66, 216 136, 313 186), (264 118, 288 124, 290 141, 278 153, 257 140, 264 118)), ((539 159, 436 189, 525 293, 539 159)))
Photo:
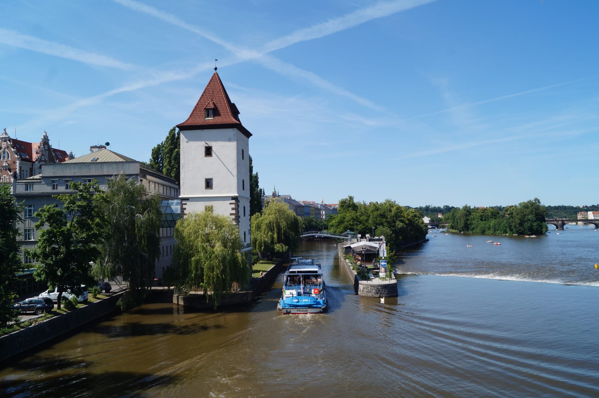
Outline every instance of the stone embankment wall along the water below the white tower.
MULTIPOLYGON (((229 297, 223 297, 220 300, 219 308, 251 303, 256 296, 261 294, 267 286, 270 286, 274 282, 282 269, 283 261, 279 261, 279 263, 270 267, 262 278, 252 278, 247 291, 235 292, 231 293, 229 297)), ((212 299, 206 301, 206 297, 203 294, 180 294, 178 291, 175 291, 173 303, 195 309, 214 309, 214 301, 212 299)))

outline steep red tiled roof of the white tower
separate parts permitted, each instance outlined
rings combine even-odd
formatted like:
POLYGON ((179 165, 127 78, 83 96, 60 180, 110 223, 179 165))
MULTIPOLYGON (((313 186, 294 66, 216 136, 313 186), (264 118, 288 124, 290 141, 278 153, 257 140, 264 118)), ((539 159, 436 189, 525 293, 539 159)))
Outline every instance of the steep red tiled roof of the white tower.
POLYGON ((239 113, 235 104, 229 99, 229 95, 226 94, 219 74, 214 72, 187 120, 178 124, 177 127, 181 130, 237 128, 249 138, 252 133, 241 125, 239 113), (214 109, 214 117, 207 119, 206 109, 214 109))

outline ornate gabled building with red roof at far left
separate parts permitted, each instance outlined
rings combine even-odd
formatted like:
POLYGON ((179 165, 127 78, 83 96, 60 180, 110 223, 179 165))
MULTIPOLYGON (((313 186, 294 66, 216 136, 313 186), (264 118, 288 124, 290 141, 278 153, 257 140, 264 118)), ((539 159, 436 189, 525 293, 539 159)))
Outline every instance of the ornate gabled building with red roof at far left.
POLYGON ((40 142, 34 143, 10 138, 6 128, 0 134, 0 182, 14 183, 40 174, 44 164, 62 163, 72 158, 72 152, 67 154, 52 147, 46 131, 40 142))

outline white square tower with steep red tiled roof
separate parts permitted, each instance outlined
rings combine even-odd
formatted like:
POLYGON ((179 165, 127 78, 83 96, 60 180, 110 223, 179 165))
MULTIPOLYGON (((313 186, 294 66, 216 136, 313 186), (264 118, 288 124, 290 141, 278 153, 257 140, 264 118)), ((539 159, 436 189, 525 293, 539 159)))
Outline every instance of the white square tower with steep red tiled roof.
POLYGON ((244 250, 250 245, 250 133, 226 93, 219 74, 199 97, 181 131, 181 213, 213 212, 231 216, 244 250))

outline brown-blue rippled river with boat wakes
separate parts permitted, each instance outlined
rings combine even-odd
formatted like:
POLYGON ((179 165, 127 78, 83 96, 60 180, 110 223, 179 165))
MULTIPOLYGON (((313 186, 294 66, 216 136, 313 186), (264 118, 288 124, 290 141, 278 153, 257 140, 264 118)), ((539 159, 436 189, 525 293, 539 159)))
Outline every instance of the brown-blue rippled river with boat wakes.
POLYGON ((326 313, 279 315, 282 275, 241 309, 146 304, 0 370, 0 396, 599 396, 599 232, 551 232, 437 231, 385 303, 354 294, 334 243, 304 243, 326 313))

